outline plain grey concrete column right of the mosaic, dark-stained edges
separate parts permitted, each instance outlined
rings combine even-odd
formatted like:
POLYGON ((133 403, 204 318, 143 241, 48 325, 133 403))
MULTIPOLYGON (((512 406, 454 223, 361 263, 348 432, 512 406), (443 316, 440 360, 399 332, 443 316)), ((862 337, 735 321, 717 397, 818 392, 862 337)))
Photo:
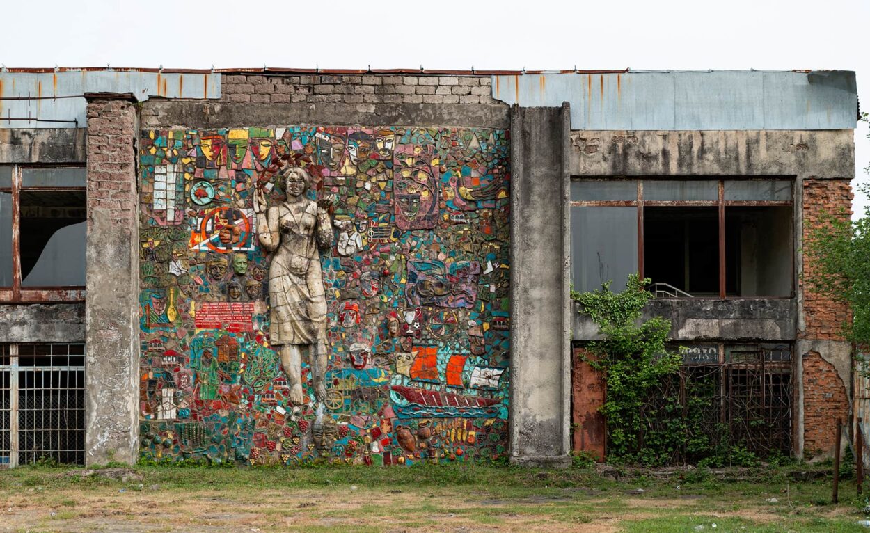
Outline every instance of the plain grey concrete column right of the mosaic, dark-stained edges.
POLYGON ((511 462, 568 466, 568 104, 511 112, 511 462))

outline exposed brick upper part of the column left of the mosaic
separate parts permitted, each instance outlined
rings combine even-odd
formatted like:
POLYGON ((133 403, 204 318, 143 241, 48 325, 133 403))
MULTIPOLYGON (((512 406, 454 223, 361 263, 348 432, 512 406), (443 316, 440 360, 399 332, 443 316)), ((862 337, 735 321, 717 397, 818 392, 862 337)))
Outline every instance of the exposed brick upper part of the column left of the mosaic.
POLYGON ((88 224, 94 211, 118 227, 136 227, 136 107, 124 100, 88 102, 88 224))

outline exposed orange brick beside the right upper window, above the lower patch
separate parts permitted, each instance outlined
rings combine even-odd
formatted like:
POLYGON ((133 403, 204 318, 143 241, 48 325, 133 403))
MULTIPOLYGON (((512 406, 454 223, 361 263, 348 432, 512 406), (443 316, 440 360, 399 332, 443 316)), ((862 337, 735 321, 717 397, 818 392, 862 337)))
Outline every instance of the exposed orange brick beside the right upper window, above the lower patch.
MULTIPOLYGON (((803 240, 810 237, 813 228, 821 223, 822 214, 852 215, 852 186, 848 179, 803 180, 803 240), (845 211, 841 211, 845 210, 845 211)), ((813 276, 813 262, 804 257, 804 276, 813 276)), ((813 291, 813 286, 800 281, 804 289, 804 330, 800 338, 840 341, 842 324, 849 320, 850 313, 845 303, 832 301, 829 297, 813 291)))

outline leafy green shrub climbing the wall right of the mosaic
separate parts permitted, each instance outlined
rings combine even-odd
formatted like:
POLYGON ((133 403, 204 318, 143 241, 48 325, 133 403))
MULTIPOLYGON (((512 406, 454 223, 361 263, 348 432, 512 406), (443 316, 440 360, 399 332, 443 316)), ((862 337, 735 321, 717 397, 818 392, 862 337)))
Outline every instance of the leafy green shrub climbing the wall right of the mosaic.
MULTIPOLYGON (((714 376, 682 367, 683 359, 667 350, 671 323, 655 316, 641 320, 653 294, 651 282, 637 274, 626 290, 600 290, 571 297, 579 312, 598 324, 602 340, 587 343, 580 356, 606 376, 609 463, 647 466, 699 462, 699 465, 753 466, 760 457, 733 435, 726 423, 711 420, 718 412, 719 382, 714 376)), ((746 423, 760 423, 748 420, 746 423)))

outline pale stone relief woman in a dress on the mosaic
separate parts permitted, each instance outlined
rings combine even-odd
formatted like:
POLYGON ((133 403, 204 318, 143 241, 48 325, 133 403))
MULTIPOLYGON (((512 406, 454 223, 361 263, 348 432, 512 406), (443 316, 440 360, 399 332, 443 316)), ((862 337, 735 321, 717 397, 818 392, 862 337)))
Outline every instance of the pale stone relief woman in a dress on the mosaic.
POLYGON ((267 251, 275 251, 269 267, 271 344, 280 350, 290 381, 290 400, 304 403, 302 349, 307 348, 314 395, 326 390, 326 297, 319 249, 332 245, 329 212, 305 197, 311 175, 299 167, 282 172, 287 199, 267 208, 266 193, 256 190, 257 232, 267 251), (277 251, 276 251, 277 250, 277 251))

